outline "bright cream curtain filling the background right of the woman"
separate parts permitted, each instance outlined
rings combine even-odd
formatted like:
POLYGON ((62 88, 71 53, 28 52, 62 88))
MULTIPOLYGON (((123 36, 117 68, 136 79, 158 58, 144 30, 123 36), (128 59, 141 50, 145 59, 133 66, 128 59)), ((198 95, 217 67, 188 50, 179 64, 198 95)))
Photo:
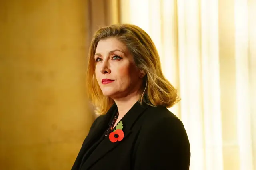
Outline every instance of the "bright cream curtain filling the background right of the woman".
MULTIPOLYGON (((114 2, 114 1, 113 1, 114 2)), ((190 170, 256 170, 256 0, 120 0, 181 102, 190 170)))

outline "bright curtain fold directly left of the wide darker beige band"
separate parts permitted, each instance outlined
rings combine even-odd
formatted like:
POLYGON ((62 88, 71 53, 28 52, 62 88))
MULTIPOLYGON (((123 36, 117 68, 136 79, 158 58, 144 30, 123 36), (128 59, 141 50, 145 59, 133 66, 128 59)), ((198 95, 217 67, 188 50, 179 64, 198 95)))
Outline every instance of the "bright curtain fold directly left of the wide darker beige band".
POLYGON ((223 170, 218 1, 201 1, 201 32, 205 169, 223 170))

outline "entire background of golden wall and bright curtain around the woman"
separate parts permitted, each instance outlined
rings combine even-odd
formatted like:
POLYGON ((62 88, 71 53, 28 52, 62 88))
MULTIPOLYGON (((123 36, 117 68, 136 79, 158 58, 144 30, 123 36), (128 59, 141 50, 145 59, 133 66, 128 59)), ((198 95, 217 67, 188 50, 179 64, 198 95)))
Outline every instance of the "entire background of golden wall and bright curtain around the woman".
POLYGON ((0 0, 0 169, 71 169, 95 119, 88 45, 118 23, 156 44, 190 170, 256 170, 256 0, 0 0))

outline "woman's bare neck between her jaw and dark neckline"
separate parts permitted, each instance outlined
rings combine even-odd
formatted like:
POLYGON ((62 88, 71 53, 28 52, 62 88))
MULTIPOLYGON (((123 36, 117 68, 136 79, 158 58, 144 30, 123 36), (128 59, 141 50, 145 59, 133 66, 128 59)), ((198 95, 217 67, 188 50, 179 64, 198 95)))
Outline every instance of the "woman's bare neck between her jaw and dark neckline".
POLYGON ((122 99, 114 99, 119 112, 119 118, 121 119, 124 115, 132 108, 132 106, 139 100, 139 95, 128 95, 122 99))

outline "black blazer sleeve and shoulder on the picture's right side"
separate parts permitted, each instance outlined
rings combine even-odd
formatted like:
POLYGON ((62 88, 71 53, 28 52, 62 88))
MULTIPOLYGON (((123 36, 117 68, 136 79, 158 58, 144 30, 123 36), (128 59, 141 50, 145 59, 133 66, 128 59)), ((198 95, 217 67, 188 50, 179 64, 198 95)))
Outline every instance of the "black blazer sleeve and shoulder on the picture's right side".
POLYGON ((135 145, 135 169, 188 170, 190 144, 182 121, 165 107, 148 107, 135 145))

